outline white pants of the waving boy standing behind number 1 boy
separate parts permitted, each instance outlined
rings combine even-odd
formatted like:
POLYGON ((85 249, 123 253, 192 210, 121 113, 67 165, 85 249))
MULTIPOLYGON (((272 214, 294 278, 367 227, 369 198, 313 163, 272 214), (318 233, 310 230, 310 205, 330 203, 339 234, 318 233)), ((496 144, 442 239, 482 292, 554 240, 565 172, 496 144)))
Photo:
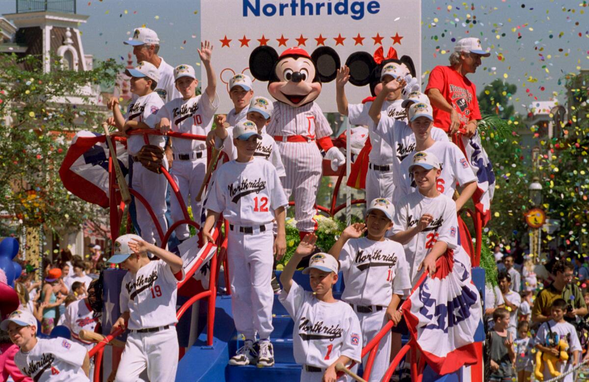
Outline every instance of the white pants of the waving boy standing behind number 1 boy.
MULTIPOLYGON (((362 330, 362 347, 365 347, 372 338, 376 337, 376 334, 386 324, 388 320, 386 320, 385 313, 386 309, 372 313, 356 313, 360 321, 360 329, 362 330)), ((389 357, 391 357, 390 330, 382 337, 382 340, 378 344, 378 351, 376 351, 376 357, 374 358, 374 363, 370 371, 370 382, 379 382, 382 380, 390 364, 389 357)), ((368 361, 368 354, 362 358, 362 364, 364 366, 366 366, 366 361, 368 361)))

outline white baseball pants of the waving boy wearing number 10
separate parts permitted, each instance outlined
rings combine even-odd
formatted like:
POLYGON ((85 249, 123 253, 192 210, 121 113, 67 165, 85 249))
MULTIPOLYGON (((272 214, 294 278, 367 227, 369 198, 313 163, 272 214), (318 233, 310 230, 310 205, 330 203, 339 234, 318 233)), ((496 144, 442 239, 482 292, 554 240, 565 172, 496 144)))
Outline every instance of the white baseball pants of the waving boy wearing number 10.
MULTIPOLYGON (((204 153, 203 153, 204 154, 204 153)), ((190 194, 190 206, 192 207, 193 220, 200 224, 200 214, 203 209, 202 202, 196 201, 196 195, 204 180, 204 174, 207 172, 207 157, 198 158, 190 161, 174 160, 170 175, 178 185, 184 204, 188 208, 188 195, 190 194)), ((172 221, 184 220, 184 214, 176 194, 170 195, 170 214, 172 221)), ((190 228, 187 224, 181 224, 176 227, 176 237, 178 240, 184 240, 190 237, 190 228)))

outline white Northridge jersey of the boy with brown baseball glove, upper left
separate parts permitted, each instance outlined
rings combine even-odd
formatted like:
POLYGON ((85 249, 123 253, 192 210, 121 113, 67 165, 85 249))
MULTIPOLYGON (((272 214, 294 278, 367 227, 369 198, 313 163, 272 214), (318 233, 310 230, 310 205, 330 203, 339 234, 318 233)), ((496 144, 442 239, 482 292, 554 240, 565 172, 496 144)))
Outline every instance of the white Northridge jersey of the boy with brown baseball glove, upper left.
MULTIPOLYGON (((163 105, 164 102, 156 92, 143 95, 128 105, 125 120, 143 122, 150 128, 154 128, 158 121, 156 114, 163 105)), ((137 152, 145 145, 143 137, 143 134, 135 134, 127 138, 127 152, 130 155, 137 155, 137 152)), ((165 142, 163 136, 150 134, 148 138, 150 144, 161 148, 164 147, 165 142)))

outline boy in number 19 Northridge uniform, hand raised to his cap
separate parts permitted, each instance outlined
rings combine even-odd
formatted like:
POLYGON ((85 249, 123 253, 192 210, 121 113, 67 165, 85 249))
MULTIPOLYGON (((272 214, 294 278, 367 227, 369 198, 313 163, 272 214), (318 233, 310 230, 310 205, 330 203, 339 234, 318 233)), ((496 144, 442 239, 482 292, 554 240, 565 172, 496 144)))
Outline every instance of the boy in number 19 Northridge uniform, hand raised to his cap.
POLYGON ((117 238, 109 263, 128 270, 121 285, 121 316, 112 325, 128 328, 118 366, 118 382, 135 382, 147 368, 150 381, 174 381, 178 367, 177 283, 184 279, 180 257, 143 241, 138 235, 117 238), (158 260, 151 261, 147 251, 158 260))

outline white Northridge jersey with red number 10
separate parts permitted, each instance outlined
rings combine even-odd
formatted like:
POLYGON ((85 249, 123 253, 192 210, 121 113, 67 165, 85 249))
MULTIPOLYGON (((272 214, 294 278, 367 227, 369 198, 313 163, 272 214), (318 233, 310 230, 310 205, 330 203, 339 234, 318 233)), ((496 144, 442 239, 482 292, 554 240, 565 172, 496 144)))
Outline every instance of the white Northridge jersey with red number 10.
MULTIPOLYGON (((211 103, 209 97, 197 95, 196 97, 182 99, 175 98, 165 104, 157 112, 157 121, 161 118, 170 120, 170 129, 174 132, 185 132, 188 134, 207 135, 213 125, 213 117, 219 107, 219 97, 211 103)), ((172 151, 175 154, 188 154, 194 151, 207 150, 204 141, 196 139, 171 138, 172 151)))

